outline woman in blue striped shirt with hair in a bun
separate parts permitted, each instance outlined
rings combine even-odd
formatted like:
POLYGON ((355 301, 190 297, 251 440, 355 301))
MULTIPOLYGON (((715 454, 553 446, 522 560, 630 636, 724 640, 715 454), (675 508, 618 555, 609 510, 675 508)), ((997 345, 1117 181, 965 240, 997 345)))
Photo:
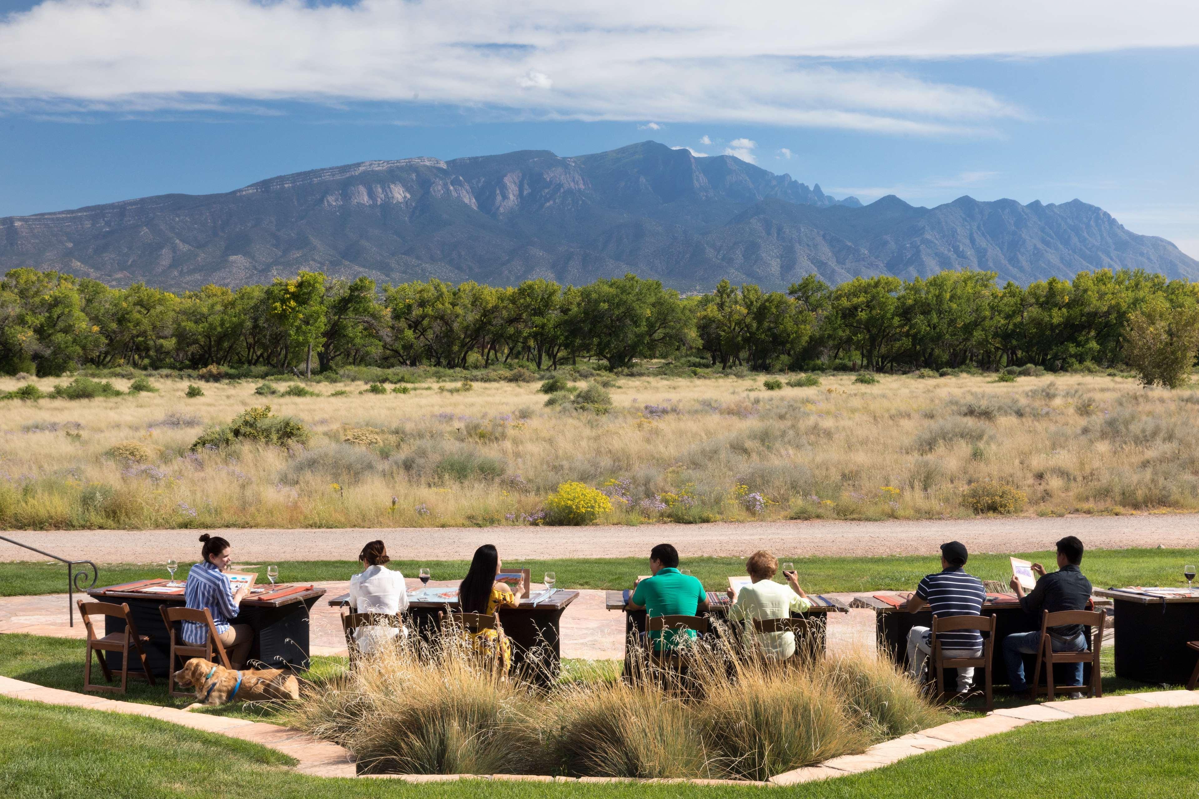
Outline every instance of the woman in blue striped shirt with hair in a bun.
MULTIPOLYGON (((217 637, 229 654, 229 662, 234 668, 246 665, 249 655, 249 647, 254 642, 254 630, 248 624, 234 624, 237 618, 239 605, 246 598, 246 589, 239 588, 236 592, 225 576, 233 556, 229 555, 229 541, 207 533, 200 535, 204 549, 200 550, 200 563, 197 563, 187 573, 187 587, 183 589, 183 599, 187 606, 195 610, 209 609, 212 613, 212 624, 217 629, 217 637)), ((183 640, 188 643, 203 646, 209 640, 209 632, 203 624, 183 622, 183 640)))

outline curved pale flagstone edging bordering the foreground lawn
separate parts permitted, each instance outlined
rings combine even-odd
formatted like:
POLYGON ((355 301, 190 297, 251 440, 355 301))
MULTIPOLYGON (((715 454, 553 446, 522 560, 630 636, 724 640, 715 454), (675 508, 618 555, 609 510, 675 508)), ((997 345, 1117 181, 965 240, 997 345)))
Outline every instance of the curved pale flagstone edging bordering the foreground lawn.
MULTIPOLYGON (((175 708, 156 704, 138 704, 110 700, 95 694, 77 694, 58 688, 46 688, 25 683, 10 677, 0 677, 0 696, 8 696, 31 702, 107 710, 109 713, 127 713, 147 716, 159 721, 169 721, 192 730, 213 732, 231 738, 251 740, 276 751, 294 757, 296 770, 311 776, 354 777, 360 776, 354 765, 354 755, 337 744, 314 738, 299 730, 289 730, 273 724, 212 716, 203 713, 187 713, 175 708)), ((1028 704, 1018 708, 1004 708, 976 719, 951 721, 939 727, 921 730, 908 736, 885 740, 870 746, 861 755, 843 755, 817 765, 807 765, 777 774, 765 782, 747 780, 638 780, 633 777, 565 777, 541 774, 372 774, 361 775, 366 779, 400 780, 403 782, 456 782, 458 780, 495 780, 513 782, 638 782, 658 785, 697 785, 697 786, 759 786, 782 787, 829 780, 849 774, 861 774, 884 765, 890 765, 905 757, 923 752, 964 744, 987 736, 994 736, 1030 724, 1060 721, 1077 716, 1092 716, 1107 713, 1125 713, 1149 708, 1179 708, 1199 704, 1199 691, 1145 691, 1122 696, 1104 696, 1089 700, 1067 700, 1052 704, 1028 704)))

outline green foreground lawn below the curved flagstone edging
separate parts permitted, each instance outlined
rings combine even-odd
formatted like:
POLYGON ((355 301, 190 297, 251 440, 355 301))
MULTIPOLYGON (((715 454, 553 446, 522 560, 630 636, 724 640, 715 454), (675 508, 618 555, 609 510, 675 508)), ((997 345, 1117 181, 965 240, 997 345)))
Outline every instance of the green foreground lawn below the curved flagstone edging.
MULTIPOLYGON (((785 789, 794 799, 936 795, 1189 795, 1199 708, 1138 710, 1032 725, 866 774, 785 789)), ((0 697, 0 795, 263 799, 673 799, 761 795, 754 787, 320 779, 242 740, 140 716, 0 697)))

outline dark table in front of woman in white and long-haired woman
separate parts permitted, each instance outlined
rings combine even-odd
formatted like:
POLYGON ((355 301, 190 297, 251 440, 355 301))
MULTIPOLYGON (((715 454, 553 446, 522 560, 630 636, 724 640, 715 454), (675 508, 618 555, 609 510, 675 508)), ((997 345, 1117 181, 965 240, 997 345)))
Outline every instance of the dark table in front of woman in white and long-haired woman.
MULTIPOLYGON (((540 659, 534 677, 554 678, 562 665, 561 622, 562 612, 579 598, 579 592, 555 588, 548 597, 544 591, 535 591, 522 598, 516 607, 500 609, 504 635, 512 642, 512 668, 519 670, 536 649, 540 659)), ((333 607, 348 604, 349 594, 329 600, 333 607)), ((438 613, 457 613, 456 588, 418 588, 408 594, 408 611, 412 628, 422 636, 432 638, 438 631, 438 613)))

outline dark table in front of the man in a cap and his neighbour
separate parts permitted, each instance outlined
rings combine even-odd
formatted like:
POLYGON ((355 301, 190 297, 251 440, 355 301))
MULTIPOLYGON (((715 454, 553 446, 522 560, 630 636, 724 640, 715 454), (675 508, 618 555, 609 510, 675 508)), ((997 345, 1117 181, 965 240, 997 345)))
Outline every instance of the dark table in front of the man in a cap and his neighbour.
MULTIPOLYGON (((903 605, 904 601, 904 598, 896 592, 879 592, 855 597, 850 607, 866 607, 874 611, 879 652, 886 652, 900 667, 906 668, 908 632, 914 627, 932 628, 933 613, 927 606, 918 613, 909 613, 905 607, 897 606, 903 605)), ((995 646, 992 653, 992 668, 994 671, 990 682, 995 685, 1010 685, 1007 665, 1004 662, 1004 638, 1013 632, 1040 632, 1041 617, 1025 613, 1016 594, 987 594, 987 601, 982 605, 982 615, 995 617, 995 646)), ((1026 679, 1032 679, 1035 660, 1035 655, 1024 655, 1026 679)), ((1056 668, 1061 671, 1062 666, 1056 668)), ((1090 664, 1083 664, 1084 682, 1090 678, 1090 664)), ((951 668, 950 671, 956 673, 956 670, 951 668)))

